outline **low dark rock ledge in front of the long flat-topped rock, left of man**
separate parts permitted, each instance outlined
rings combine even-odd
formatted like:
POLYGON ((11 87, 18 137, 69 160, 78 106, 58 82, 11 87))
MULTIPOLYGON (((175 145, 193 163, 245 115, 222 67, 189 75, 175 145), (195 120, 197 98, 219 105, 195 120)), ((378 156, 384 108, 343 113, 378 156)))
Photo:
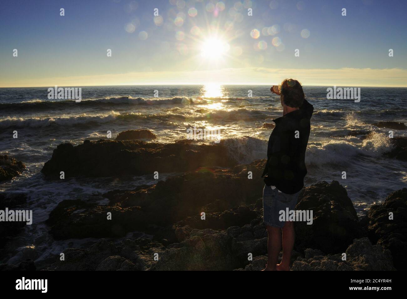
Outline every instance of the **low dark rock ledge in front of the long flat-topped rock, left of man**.
POLYGON ((245 172, 250 169, 253 176, 260 176, 261 166, 256 162, 228 172, 203 169, 135 190, 110 191, 103 195, 110 200, 109 206, 64 200, 50 213, 47 224, 55 239, 123 237, 131 231, 143 231, 152 233, 154 239, 166 239, 170 243, 181 241, 177 239, 175 229, 186 225, 226 229, 248 224, 256 213, 251 208, 237 206, 256 202, 263 183, 248 179, 240 172, 241 168, 245 172), (201 188, 205 191, 197 192, 201 188), (224 194, 228 194, 228 200, 224 199, 224 194), (216 204, 210 206, 213 202, 222 202, 223 212, 218 212, 216 204), (208 213, 204 221, 200 219, 203 211, 208 213), (112 213, 112 220, 107 220, 108 212, 112 213), (172 227, 178 221, 183 222, 172 227))

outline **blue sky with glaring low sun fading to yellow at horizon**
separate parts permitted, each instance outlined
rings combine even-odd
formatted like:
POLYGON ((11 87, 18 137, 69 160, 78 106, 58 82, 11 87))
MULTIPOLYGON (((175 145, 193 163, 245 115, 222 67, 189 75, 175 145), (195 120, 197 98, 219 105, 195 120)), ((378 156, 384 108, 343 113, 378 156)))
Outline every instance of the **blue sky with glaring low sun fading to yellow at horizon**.
POLYGON ((0 86, 273 84, 282 76, 406 86, 406 9, 401 0, 2 2, 0 86), (219 43, 224 53, 201 55, 219 43))

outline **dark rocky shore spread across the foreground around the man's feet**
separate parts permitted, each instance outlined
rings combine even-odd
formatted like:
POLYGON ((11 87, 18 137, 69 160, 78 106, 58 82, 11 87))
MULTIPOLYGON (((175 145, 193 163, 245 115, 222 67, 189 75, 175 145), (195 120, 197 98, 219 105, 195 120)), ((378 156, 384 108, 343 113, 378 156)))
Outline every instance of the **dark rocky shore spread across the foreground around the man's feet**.
MULTIPOLYGON (((99 240, 66 248, 64 261, 56 255, 0 270, 261 270, 267 262, 264 164, 238 165, 222 144, 61 144, 42 169, 46 179, 59 179, 60 171, 66 178, 179 174, 133 190, 60 202, 46 221, 55 240, 99 240), (101 199, 109 202, 101 205, 101 199), (140 238, 138 232, 152 237, 140 238)), ((0 198, 3 205, 6 200, 0 198)), ((296 210, 313 210, 313 224, 295 223, 292 270, 406 270, 407 188, 360 219, 339 182, 317 182, 302 190, 296 210)))

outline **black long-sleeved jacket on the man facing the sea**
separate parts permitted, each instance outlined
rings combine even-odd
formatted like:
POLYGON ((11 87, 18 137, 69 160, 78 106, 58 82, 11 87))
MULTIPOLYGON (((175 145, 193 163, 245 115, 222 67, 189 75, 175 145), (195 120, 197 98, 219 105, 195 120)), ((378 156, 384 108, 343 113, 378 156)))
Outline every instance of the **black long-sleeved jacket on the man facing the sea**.
POLYGON ((298 110, 273 120, 276 126, 269 138, 267 164, 261 176, 267 186, 276 186, 286 194, 297 193, 304 186, 305 151, 313 111, 314 107, 304 100, 298 110))

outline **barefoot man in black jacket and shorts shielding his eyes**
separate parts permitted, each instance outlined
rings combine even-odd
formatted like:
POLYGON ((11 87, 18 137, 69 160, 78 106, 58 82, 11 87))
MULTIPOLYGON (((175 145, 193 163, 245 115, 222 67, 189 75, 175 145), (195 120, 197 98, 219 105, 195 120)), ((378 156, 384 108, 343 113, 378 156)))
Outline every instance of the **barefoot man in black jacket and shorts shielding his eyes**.
POLYGON ((305 100, 300 82, 284 80, 270 91, 280 95, 283 116, 273 120, 276 126, 269 138, 267 163, 263 171, 263 221, 269 235, 269 259, 264 270, 289 270, 294 247, 294 223, 280 221, 280 210, 294 210, 307 173, 305 151, 311 130, 314 107, 305 100), (280 264, 278 254, 282 245, 280 264))

